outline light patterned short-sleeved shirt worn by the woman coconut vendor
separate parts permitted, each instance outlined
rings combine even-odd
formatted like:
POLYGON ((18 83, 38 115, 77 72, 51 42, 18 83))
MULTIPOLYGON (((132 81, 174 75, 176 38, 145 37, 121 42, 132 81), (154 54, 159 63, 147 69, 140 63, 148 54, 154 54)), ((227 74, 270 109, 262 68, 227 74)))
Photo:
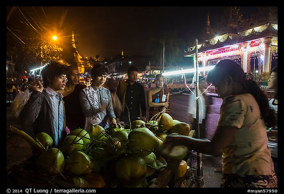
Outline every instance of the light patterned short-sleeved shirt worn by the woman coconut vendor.
POLYGON ((239 128, 232 142, 223 148, 223 173, 272 175, 273 163, 267 146, 266 126, 251 94, 224 98, 218 126, 239 128))

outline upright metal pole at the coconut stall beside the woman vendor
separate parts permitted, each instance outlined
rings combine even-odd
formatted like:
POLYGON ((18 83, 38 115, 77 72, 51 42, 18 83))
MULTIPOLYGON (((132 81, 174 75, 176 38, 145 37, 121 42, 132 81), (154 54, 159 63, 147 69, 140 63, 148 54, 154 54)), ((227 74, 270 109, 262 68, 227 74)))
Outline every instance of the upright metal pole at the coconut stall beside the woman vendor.
MULTIPOLYGON (((196 126, 196 132, 197 132, 197 138, 200 138, 200 131, 199 131, 199 98, 200 95, 199 92, 199 74, 198 74, 198 40, 195 39, 195 64, 196 64, 196 119, 195 119, 195 126, 196 126)), ((203 187, 203 172, 202 172, 202 159, 201 159, 201 153, 197 152, 197 187, 203 187)))

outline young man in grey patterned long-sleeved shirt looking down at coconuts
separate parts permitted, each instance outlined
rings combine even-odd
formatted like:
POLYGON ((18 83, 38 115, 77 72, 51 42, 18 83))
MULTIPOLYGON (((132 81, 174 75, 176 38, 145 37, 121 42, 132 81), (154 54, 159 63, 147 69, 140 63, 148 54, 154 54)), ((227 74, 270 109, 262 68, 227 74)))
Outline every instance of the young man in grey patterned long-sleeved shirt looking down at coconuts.
POLYGON ((106 129, 109 127, 108 120, 110 125, 116 125, 110 91, 103 87, 107 71, 104 65, 95 65, 91 71, 91 85, 80 91, 79 100, 85 116, 85 127, 98 124, 106 129))

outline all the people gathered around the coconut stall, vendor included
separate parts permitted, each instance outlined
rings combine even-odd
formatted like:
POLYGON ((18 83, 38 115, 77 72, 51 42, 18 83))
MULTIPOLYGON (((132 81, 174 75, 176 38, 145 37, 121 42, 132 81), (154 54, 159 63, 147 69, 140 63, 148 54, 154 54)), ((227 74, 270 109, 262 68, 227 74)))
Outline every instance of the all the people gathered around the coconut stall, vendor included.
MULTIPOLYGON (((36 80, 28 86, 32 94, 20 114, 23 126, 33 125, 35 134, 46 132, 58 146, 70 131, 89 124, 107 129, 119 122, 129 128, 134 120, 147 121, 170 110, 171 92, 161 74, 156 75, 156 85, 147 95, 137 82, 135 66, 128 68, 126 80, 117 82, 111 76, 106 81, 107 74, 104 65, 94 66, 91 84, 86 86, 79 84, 77 67, 50 62, 42 70, 42 82, 36 80)), ((200 94, 198 121, 196 109, 192 108, 196 107, 195 95, 188 100, 191 127, 200 124, 198 138, 168 135, 164 145, 183 145, 208 155, 221 152, 221 187, 277 187, 277 69, 272 70, 268 86, 276 91, 271 100, 255 81, 246 78, 240 65, 221 60, 192 91, 200 94), (212 140, 206 139, 206 114, 210 113, 206 81, 215 86, 223 100, 212 140)))

